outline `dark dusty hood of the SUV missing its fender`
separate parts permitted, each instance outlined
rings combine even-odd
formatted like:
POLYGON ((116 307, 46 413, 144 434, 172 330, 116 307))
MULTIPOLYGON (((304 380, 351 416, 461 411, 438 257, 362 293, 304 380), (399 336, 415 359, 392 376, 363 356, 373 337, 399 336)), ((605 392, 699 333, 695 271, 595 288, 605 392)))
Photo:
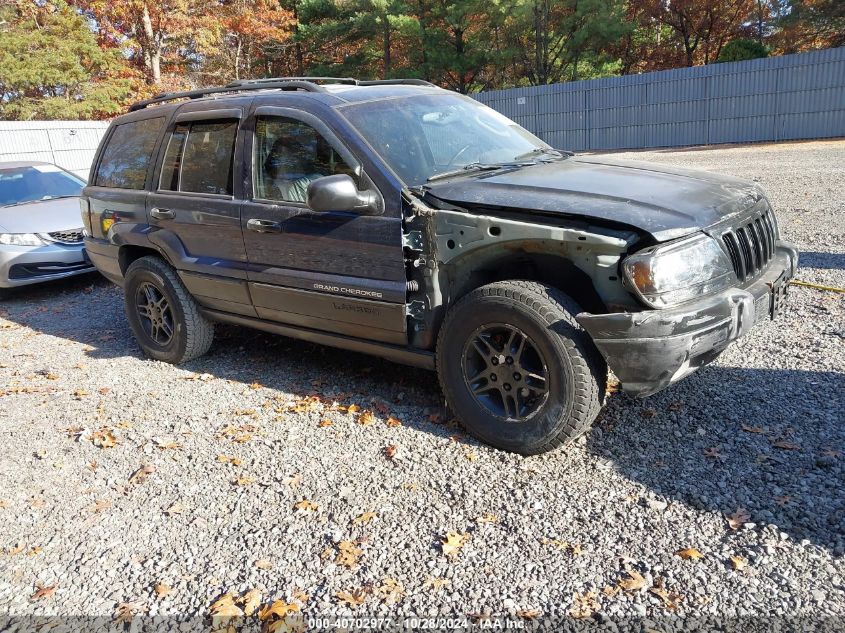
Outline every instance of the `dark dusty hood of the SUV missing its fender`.
POLYGON ((607 220, 656 241, 681 237, 741 213, 763 196, 753 183, 655 163, 577 156, 427 185, 461 206, 492 206, 607 220))

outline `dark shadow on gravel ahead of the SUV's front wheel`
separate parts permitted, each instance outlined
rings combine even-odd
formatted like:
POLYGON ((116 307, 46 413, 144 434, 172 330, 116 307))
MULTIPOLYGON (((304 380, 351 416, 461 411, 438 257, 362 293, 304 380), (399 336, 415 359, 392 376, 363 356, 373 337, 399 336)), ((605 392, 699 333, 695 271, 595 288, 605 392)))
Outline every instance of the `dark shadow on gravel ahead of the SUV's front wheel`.
POLYGON ((649 497, 774 525, 845 554, 842 374, 705 367, 644 400, 612 394, 587 449, 649 497))

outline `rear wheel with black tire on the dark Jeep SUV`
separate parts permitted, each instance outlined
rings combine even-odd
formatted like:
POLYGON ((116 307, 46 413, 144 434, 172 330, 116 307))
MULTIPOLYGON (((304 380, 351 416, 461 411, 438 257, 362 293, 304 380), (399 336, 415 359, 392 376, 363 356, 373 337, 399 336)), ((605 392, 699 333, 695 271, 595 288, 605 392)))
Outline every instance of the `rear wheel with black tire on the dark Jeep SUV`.
POLYGON ((161 258, 141 257, 129 265, 123 298, 135 340, 150 358, 179 364, 202 356, 211 347, 214 323, 200 313, 176 271, 161 258), (151 303, 159 306, 155 314, 150 314, 151 303), (148 316, 139 308, 141 304, 147 306, 148 316))

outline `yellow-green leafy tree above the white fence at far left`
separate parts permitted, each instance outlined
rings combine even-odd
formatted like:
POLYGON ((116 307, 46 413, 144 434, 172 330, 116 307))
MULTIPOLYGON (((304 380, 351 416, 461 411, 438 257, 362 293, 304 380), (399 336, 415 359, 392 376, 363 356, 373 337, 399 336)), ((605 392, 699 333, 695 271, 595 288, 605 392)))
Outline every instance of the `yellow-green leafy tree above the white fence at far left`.
POLYGON ((0 23, 0 118, 105 118, 134 99, 137 75, 64 0, 7 4, 0 23))

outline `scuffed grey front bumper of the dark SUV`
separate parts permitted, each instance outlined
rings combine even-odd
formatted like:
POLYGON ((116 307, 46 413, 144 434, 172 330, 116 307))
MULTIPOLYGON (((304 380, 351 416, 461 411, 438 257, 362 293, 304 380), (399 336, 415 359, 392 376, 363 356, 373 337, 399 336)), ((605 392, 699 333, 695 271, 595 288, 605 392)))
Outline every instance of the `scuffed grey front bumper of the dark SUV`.
POLYGON ((765 272, 746 288, 728 288, 677 308, 614 314, 581 313, 623 391, 648 396, 714 360, 773 310, 798 268, 798 251, 777 242, 765 272))

